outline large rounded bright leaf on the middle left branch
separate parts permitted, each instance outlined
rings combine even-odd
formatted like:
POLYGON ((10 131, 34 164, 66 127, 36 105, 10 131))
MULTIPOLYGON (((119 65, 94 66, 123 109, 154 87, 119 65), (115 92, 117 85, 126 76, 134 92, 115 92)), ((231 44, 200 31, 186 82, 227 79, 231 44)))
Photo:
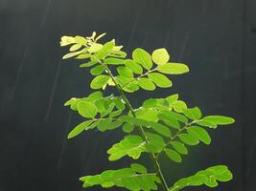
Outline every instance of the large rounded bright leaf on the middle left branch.
POLYGON ((77 103, 79 114, 82 117, 90 117, 93 118, 97 115, 98 110, 97 107, 88 101, 79 101, 77 103))

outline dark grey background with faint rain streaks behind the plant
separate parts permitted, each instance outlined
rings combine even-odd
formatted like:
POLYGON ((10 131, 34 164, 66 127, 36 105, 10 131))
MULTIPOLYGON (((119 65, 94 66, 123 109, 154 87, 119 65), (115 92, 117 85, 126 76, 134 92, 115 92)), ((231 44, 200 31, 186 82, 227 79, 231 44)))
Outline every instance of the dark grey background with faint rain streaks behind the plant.
POLYGON ((58 42, 93 31, 128 53, 165 47, 190 66, 172 89, 130 95, 133 105, 179 93, 205 115, 237 120, 212 132, 210 146, 192 148, 183 165, 163 159, 169 183, 227 164, 234 180, 210 190, 255 190, 255 12, 255 0, 0 0, 0 191, 81 190, 82 175, 128 166, 105 153, 121 131, 66 139, 81 118, 62 104, 89 94, 91 76, 76 61, 61 61, 58 42))

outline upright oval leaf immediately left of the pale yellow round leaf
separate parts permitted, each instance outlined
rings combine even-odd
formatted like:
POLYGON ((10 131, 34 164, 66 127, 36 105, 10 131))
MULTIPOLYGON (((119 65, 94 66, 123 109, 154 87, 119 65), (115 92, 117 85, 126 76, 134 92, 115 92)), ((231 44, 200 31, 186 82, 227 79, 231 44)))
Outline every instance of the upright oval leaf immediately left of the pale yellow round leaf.
POLYGON ((145 69, 150 70, 152 67, 151 54, 143 49, 137 48, 132 52, 132 58, 145 69))

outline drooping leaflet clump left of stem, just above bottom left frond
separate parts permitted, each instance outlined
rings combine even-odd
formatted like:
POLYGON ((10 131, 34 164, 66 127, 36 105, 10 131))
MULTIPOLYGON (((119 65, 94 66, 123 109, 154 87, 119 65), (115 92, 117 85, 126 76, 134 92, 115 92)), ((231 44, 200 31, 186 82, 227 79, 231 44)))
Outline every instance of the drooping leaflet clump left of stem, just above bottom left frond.
POLYGON ((142 152, 146 152, 145 141, 139 136, 127 136, 107 150, 109 160, 114 161, 128 155, 132 159, 139 159, 142 152))

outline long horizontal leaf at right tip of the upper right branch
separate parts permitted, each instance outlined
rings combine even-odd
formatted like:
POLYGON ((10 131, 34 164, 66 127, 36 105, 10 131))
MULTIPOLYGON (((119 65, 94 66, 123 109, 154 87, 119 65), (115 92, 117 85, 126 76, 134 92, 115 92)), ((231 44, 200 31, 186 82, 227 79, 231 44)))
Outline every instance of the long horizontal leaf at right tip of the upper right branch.
POLYGON ((156 70, 163 74, 185 74, 189 72, 187 65, 180 63, 162 64, 159 65, 156 70))

